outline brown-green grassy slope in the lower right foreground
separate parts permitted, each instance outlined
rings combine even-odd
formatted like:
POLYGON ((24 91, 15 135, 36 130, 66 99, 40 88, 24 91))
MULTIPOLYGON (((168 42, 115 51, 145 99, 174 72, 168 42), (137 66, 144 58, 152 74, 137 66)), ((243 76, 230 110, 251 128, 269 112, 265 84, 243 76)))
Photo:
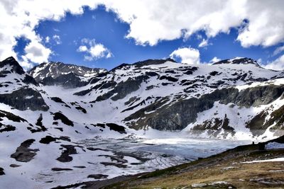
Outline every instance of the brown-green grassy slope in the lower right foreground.
POLYGON ((271 142, 284 143, 284 137, 122 179, 126 181, 110 181, 103 188, 284 188, 284 161, 244 163, 284 157, 284 149, 263 149, 271 142))

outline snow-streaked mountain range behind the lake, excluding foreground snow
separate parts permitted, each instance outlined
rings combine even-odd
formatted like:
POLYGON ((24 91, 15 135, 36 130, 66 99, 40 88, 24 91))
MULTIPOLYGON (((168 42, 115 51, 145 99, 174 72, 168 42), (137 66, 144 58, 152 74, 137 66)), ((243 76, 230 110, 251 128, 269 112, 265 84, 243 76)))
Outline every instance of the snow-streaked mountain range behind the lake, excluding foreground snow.
POLYGON ((13 57, 1 62, 1 103, 52 112, 59 105, 67 118, 82 113, 76 120, 83 125, 112 122, 208 137, 266 137, 268 127, 283 124, 280 115, 271 115, 282 107, 283 72, 249 58, 212 65, 148 59, 110 71, 50 62, 28 73, 13 57))

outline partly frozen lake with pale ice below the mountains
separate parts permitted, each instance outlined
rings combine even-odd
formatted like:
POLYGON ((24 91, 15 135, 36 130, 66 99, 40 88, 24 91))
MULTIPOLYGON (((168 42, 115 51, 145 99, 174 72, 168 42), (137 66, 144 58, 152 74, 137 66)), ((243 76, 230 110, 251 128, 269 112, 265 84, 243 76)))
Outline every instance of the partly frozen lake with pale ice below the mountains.
MULTIPOLYGON (((111 152, 113 156, 126 159, 126 163, 121 161, 119 164, 124 163, 127 168, 131 168, 131 171, 136 170, 138 173, 175 166, 249 143, 249 141, 221 139, 126 137, 122 139, 86 139, 81 144, 94 149, 103 149, 111 152)), ((117 162, 117 159, 112 160, 117 162)))

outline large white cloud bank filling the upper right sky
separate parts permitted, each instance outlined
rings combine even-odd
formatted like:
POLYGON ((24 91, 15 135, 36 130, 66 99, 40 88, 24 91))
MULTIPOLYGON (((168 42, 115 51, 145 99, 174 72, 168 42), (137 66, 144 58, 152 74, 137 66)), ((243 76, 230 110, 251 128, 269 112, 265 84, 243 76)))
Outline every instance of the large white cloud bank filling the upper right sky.
POLYGON ((244 47, 275 45, 284 40, 284 1, 107 1, 107 8, 130 24, 126 38, 155 45, 160 40, 190 37, 204 30, 207 38, 242 26, 237 40, 244 47), (244 23, 244 20, 247 22, 244 23), (183 31, 183 32, 182 32, 183 31))

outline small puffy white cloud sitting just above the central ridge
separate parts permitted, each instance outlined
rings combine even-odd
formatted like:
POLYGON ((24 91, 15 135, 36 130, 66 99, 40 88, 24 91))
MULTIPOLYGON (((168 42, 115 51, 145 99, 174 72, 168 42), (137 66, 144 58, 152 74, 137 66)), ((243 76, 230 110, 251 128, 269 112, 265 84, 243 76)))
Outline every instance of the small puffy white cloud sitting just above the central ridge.
POLYGON ((174 50, 170 57, 176 59, 179 57, 182 63, 185 64, 200 64, 200 52, 192 47, 183 47, 178 50, 174 50))

